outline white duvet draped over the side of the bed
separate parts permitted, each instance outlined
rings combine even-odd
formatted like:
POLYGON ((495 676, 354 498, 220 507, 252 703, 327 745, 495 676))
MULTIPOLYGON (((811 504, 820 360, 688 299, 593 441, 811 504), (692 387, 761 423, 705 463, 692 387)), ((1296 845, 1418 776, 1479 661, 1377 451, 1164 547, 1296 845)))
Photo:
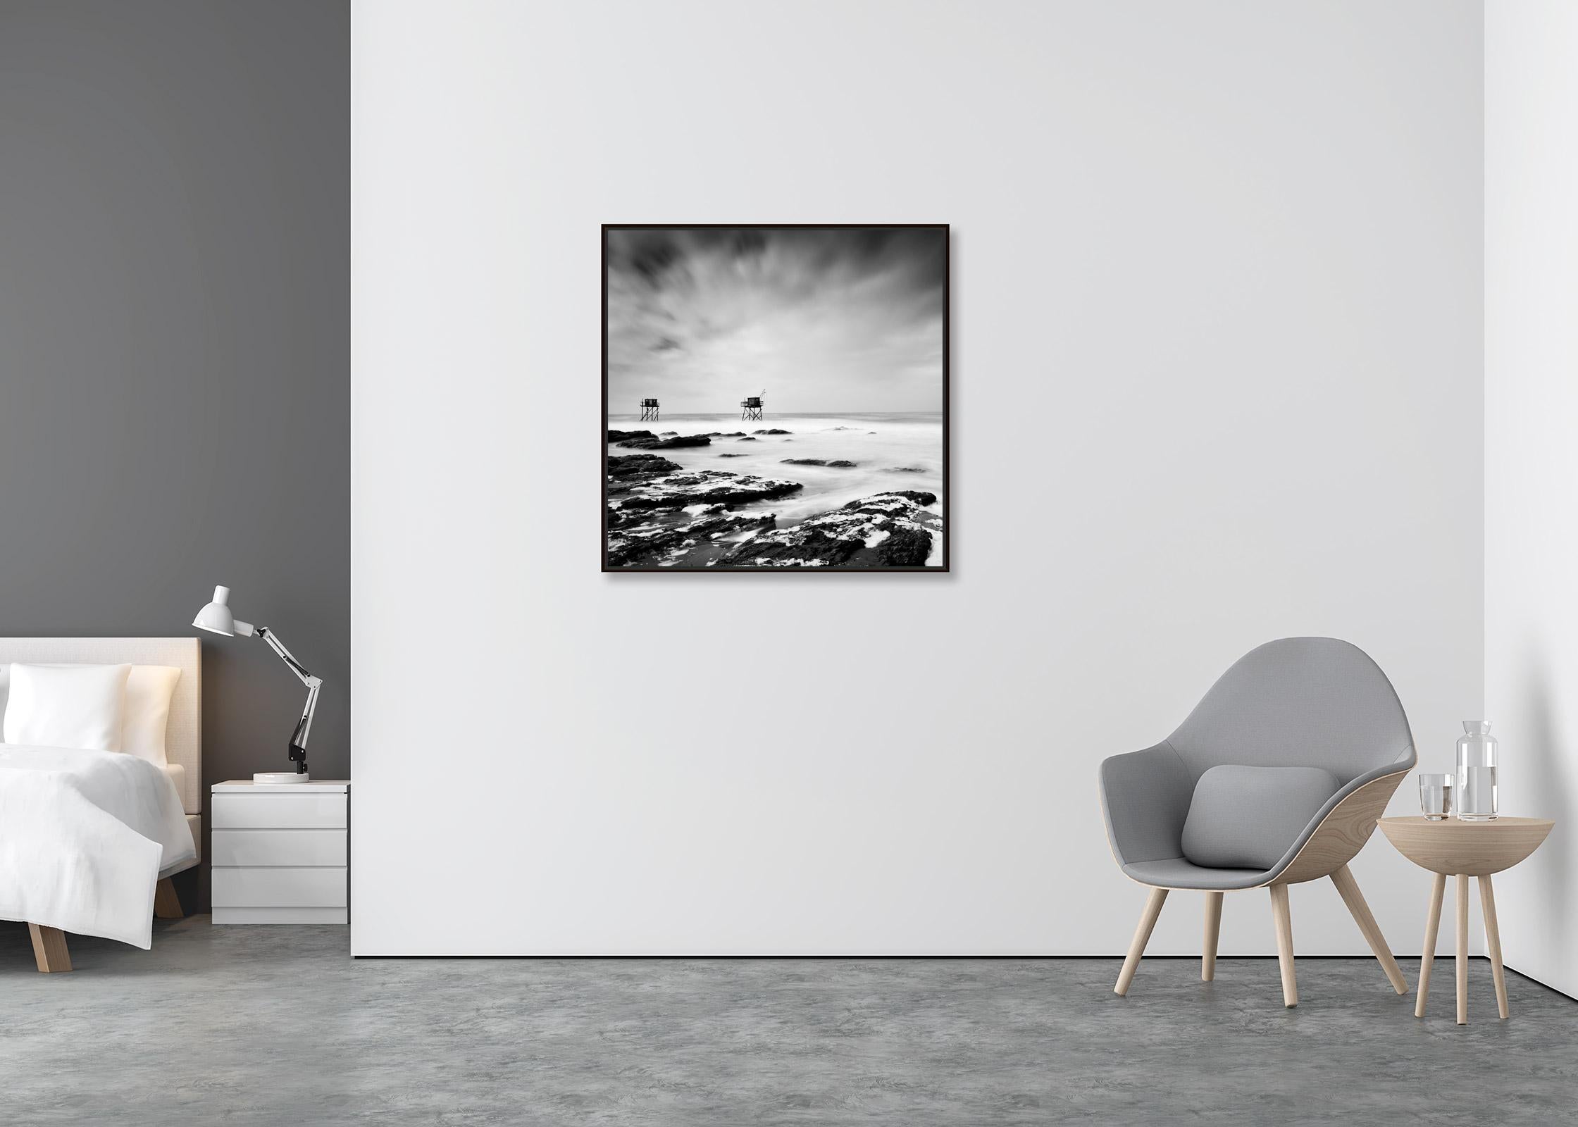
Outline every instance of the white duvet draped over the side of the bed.
POLYGON ((147 759, 0 743, 0 919, 147 950, 159 871, 196 856, 175 784, 147 759))

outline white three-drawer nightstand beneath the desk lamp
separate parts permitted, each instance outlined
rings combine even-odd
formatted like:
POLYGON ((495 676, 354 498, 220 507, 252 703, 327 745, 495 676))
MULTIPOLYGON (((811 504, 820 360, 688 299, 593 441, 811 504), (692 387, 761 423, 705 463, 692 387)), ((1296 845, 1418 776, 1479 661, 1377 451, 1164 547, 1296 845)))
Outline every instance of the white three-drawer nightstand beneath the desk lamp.
POLYGON ((350 783, 213 786, 213 922, 350 922, 350 783))

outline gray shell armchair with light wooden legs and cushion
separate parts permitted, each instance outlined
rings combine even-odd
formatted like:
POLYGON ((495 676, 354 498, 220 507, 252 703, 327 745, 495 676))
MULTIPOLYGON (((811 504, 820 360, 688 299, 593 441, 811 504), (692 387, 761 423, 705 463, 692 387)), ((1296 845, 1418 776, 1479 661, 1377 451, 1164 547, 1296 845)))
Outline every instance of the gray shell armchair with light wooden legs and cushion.
POLYGON ((1116 991, 1127 994, 1172 889, 1206 893, 1201 977, 1221 898, 1269 889, 1283 1002, 1299 1004, 1288 886, 1330 876, 1397 993, 1408 987, 1348 862, 1414 766, 1392 682, 1357 646, 1283 638, 1239 658, 1168 739, 1101 764, 1112 856, 1150 898, 1116 991))

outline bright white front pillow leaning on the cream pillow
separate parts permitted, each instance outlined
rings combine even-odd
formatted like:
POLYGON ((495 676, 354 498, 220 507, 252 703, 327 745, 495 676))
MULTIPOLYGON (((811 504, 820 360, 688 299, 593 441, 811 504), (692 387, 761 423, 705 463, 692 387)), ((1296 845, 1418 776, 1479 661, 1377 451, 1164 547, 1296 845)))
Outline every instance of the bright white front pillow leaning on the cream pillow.
POLYGON ((120 751, 129 665, 11 663, 5 742, 120 751))

